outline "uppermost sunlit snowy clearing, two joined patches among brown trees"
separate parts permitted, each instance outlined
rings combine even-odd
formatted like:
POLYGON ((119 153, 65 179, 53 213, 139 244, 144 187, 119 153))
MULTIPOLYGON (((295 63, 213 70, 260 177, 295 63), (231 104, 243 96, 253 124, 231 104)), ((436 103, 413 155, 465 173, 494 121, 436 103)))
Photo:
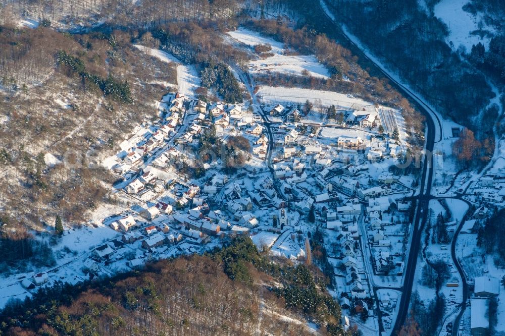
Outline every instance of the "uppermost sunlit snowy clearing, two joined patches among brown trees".
POLYGON ((251 73, 264 73, 267 71, 280 72, 289 75, 301 75, 307 70, 313 77, 328 78, 330 73, 318 62, 314 55, 285 55, 284 45, 271 38, 261 36, 257 32, 239 28, 227 33, 238 44, 254 47, 257 44, 270 44, 274 55, 264 60, 255 60, 249 63, 251 73))

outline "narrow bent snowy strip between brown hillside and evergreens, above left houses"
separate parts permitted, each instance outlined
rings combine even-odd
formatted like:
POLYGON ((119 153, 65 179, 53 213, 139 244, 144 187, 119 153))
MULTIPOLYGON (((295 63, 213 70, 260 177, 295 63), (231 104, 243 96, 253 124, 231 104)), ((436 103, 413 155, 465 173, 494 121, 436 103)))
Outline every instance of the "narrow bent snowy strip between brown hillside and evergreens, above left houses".
POLYGON ((198 77, 198 73, 196 72, 194 66, 182 64, 181 61, 166 51, 149 48, 139 44, 134 44, 134 46, 139 50, 142 50, 156 57, 160 61, 167 63, 176 63, 178 85, 177 90, 179 92, 184 92, 188 96, 194 97, 194 90, 196 90, 201 85, 200 78, 198 77))

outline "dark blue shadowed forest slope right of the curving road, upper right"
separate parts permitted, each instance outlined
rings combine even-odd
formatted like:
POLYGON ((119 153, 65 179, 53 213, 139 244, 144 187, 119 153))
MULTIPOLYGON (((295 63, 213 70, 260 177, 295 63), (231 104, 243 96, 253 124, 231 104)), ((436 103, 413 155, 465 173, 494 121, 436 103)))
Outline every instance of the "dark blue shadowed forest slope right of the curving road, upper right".
MULTIPOLYGON (((353 34, 379 57, 394 64, 395 71, 441 113, 473 129, 484 139, 498 114, 496 107, 486 108, 495 97, 486 76, 489 74, 502 82, 501 37, 493 38, 486 51, 480 47, 466 50, 452 46, 446 41, 450 28, 433 14, 439 2, 426 1, 426 8, 417 0, 327 3, 353 34), (482 73, 474 65, 486 71, 482 73), (484 127, 475 128, 476 122, 484 127)), ((489 20, 501 25, 497 20, 502 9, 498 7, 494 1, 476 0, 466 10, 485 8, 489 20), (493 12, 496 14, 491 19, 489 13, 493 12)), ((485 34, 475 32, 476 36, 481 33, 485 34)))

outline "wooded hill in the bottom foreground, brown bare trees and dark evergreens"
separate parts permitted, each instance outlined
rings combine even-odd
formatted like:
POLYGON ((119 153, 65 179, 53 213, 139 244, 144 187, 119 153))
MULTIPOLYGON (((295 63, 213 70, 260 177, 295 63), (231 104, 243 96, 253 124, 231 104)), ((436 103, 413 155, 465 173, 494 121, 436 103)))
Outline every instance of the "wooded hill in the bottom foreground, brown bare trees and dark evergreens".
POLYGON ((0 330, 8 335, 309 335, 307 318, 322 334, 357 335, 356 329, 342 329, 340 307, 326 285, 317 268, 273 263, 249 238, 238 237, 206 256, 43 288, 25 302, 9 302, 0 314, 0 330))

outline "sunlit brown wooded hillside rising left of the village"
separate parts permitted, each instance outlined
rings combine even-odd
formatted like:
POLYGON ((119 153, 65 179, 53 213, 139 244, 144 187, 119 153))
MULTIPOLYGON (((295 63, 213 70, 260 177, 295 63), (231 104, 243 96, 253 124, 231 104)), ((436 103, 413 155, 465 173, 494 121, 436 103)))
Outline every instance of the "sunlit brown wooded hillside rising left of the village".
POLYGON ((78 223, 113 202, 102 181, 114 180, 98 160, 156 116, 153 104, 176 84, 175 67, 142 55, 131 38, 2 27, 0 205, 10 228, 2 234, 10 247, 2 249, 4 262, 37 254, 23 227, 43 231, 56 215, 78 223))

